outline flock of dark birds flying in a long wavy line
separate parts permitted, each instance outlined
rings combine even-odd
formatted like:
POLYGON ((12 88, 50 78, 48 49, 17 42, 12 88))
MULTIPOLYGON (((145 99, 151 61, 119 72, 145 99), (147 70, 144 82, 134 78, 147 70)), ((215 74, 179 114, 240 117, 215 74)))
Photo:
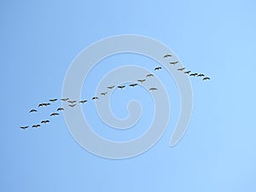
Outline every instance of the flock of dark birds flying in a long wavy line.
MULTIPOLYGON (((170 55, 170 54, 164 55, 164 58, 168 58, 168 57, 172 57, 172 55, 170 55)), ((176 64, 178 63, 178 61, 171 61, 171 62, 169 62, 169 63, 170 63, 171 65, 176 65, 176 64)), ((155 67, 155 68, 154 68, 154 71, 159 71, 160 69, 162 69, 162 67, 155 67)), ((186 70, 185 70, 185 67, 178 68, 177 70, 178 70, 178 71, 181 71, 181 72, 183 72, 183 73, 185 73, 185 74, 189 74, 189 76, 202 77, 202 80, 209 80, 209 79, 210 79, 209 77, 207 77, 206 75, 204 75, 204 74, 202 74, 202 73, 191 73, 191 71, 189 71, 189 70, 186 71, 186 70)), ((149 74, 146 76, 146 78, 150 78, 150 77, 154 77, 154 74, 149 73, 149 74)), ((146 81, 146 79, 137 79, 137 81, 140 82, 141 84, 143 84, 143 82, 146 81)), ((130 87, 135 87, 135 86, 137 86, 137 85, 138 85, 137 83, 129 84, 130 87)), ((115 87, 115 85, 111 85, 111 86, 108 86, 107 88, 108 88, 108 90, 113 90, 114 87, 115 87)), ((117 88, 119 88, 120 90, 122 90, 122 89, 125 88, 125 84, 123 84, 123 85, 118 85, 117 88)), ((157 90, 157 88, 151 87, 151 88, 149 88, 149 90, 154 91, 154 90, 157 90)), ((102 93, 101 93, 101 96, 106 96, 107 94, 108 94, 108 91, 102 92, 102 93)), ((97 99, 99 99, 98 96, 93 96, 93 97, 91 98, 91 100, 97 100, 97 99)), ((38 108, 48 107, 49 105, 51 105, 51 103, 56 102, 57 100, 58 100, 58 99, 56 99, 56 98, 55 98, 55 99, 49 99, 49 102, 42 102, 42 103, 38 104, 38 108)), ((74 107, 77 105, 77 103, 84 104, 85 102, 88 102, 88 100, 76 101, 76 100, 71 100, 70 98, 61 98, 60 100, 61 100, 62 102, 68 102, 68 103, 69 103, 68 106, 69 106, 70 108, 74 108, 74 107)), ((50 113, 49 116, 50 116, 50 117, 58 116, 58 115, 60 115, 60 112, 61 112, 61 111, 64 111, 64 110, 65 110, 64 108, 57 108, 57 109, 56 109, 56 112, 50 113)), ((32 109, 29 111, 29 113, 37 113, 37 112, 38 112, 38 110, 35 109, 35 108, 32 108, 32 109)), ((41 125, 43 125, 43 124, 48 124, 48 123, 49 123, 49 119, 44 119, 44 120, 41 121, 41 124, 31 125, 31 127, 32 127, 32 128, 38 128, 38 127, 40 127, 41 125)), ((26 130, 26 129, 29 128, 29 127, 30 127, 29 125, 20 126, 20 128, 23 129, 23 130, 26 130)))

